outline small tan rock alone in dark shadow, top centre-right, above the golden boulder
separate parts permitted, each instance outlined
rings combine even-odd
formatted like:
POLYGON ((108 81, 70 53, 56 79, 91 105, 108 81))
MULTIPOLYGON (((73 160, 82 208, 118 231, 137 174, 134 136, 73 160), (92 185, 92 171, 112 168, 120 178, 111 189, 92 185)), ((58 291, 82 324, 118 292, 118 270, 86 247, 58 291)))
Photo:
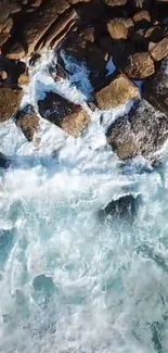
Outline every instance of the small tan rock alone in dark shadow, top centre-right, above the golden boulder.
POLYGON ((127 39, 131 27, 133 27, 131 18, 115 18, 107 23, 107 28, 113 39, 127 39))

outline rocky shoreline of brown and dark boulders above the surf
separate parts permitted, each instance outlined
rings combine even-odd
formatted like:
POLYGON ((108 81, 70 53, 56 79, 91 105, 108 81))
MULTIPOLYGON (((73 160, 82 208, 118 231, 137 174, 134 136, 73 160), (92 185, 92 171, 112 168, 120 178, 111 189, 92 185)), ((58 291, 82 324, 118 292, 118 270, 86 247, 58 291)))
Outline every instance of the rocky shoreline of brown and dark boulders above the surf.
POLYGON ((33 141, 41 116, 77 138, 90 124, 89 109, 103 114, 134 101, 108 127, 107 142, 124 161, 155 160, 168 134, 167 11, 167 0, 0 0, 0 122, 14 117, 33 141), (86 66, 88 111, 55 92, 38 101, 38 111, 20 109, 29 67, 49 49, 57 58, 49 67, 55 81, 74 74, 65 58, 86 66), (109 59, 115 70, 107 75, 109 59))

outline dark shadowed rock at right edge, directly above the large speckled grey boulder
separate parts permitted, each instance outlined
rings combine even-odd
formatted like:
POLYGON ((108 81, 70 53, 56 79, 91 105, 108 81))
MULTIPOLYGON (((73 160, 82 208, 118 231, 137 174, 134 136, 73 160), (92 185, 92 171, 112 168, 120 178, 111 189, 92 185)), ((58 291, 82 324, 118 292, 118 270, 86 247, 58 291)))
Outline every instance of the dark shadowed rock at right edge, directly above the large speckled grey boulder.
POLYGON ((163 60, 155 76, 144 84, 144 98, 168 116, 168 58, 163 60))

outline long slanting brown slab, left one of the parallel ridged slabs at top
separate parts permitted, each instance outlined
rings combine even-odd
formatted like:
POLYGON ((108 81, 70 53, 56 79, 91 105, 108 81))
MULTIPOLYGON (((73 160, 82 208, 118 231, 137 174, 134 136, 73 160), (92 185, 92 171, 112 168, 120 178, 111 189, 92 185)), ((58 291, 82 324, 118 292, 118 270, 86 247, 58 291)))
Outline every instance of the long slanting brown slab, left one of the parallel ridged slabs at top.
POLYGON ((35 51, 47 30, 56 21, 57 15, 68 8, 69 4, 66 0, 48 0, 43 2, 40 11, 33 14, 31 20, 24 24, 23 36, 27 45, 27 55, 35 51))

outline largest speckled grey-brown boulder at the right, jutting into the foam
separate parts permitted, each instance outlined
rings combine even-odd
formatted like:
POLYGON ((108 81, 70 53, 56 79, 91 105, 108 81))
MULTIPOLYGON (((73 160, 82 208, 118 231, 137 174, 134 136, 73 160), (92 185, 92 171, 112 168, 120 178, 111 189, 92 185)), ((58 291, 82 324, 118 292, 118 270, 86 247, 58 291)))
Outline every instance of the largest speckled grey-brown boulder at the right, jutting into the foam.
POLYGON ((168 118, 142 100, 111 125, 106 137, 119 159, 142 154, 152 161, 168 138, 168 118))

